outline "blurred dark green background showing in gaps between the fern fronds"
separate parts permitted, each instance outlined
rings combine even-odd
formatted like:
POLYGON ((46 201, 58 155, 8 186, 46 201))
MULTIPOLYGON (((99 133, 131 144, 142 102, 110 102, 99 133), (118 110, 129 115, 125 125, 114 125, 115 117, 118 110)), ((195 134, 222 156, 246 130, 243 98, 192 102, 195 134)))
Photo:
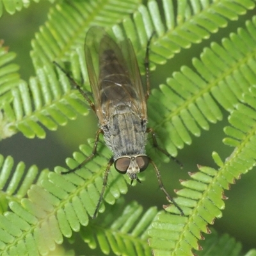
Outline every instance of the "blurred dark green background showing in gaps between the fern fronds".
MULTIPOLYGON (((31 3, 28 9, 23 9, 15 15, 4 13, 0 19, 0 39, 4 39, 4 45, 10 47, 10 51, 17 52, 16 63, 20 65, 20 75, 22 79, 28 81, 30 76, 35 76, 33 65, 29 58, 31 51, 31 39, 35 37, 40 25, 47 19, 47 12, 51 8, 48 2, 38 4, 31 3)), ((254 10, 255 12, 255 10, 254 10)), ((239 20, 230 22, 228 28, 220 29, 218 33, 211 37, 215 42, 221 42, 223 36, 227 37, 227 31, 236 33, 238 26, 244 27, 244 21, 252 17, 253 11, 239 17, 239 20)), ((162 77, 166 73, 172 76, 173 71, 179 71, 181 65, 191 67, 191 58, 199 58, 204 47, 209 47, 210 41, 204 40, 201 44, 192 45, 190 49, 182 49, 166 65, 157 67, 150 76, 152 87, 157 87, 164 83, 162 77)), ((223 121, 218 124, 211 124, 210 131, 202 131, 199 138, 193 137, 192 145, 186 145, 179 151, 179 160, 184 164, 180 170, 175 163, 161 164, 159 169, 168 191, 181 188, 179 179, 188 179, 188 172, 196 172, 196 164, 217 168, 212 160, 212 151, 218 152, 221 158, 228 157, 233 148, 223 145, 221 142, 225 138, 223 127, 228 125, 228 113, 223 111, 223 121)), ((97 118, 90 111, 88 116, 79 116, 76 121, 68 122, 65 127, 59 127, 56 132, 47 131, 46 140, 24 138, 22 134, 15 134, 12 138, 7 138, 0 143, 0 153, 4 157, 10 155, 17 164, 24 161, 26 166, 36 164, 40 169, 54 166, 65 166, 65 159, 72 156, 72 152, 77 151, 80 144, 87 143, 87 138, 94 138, 97 129, 97 118), (86 124, 93 124, 88 127, 86 124), (85 128, 86 127, 86 128, 85 128)), ((161 209, 166 204, 166 199, 160 191, 154 171, 150 168, 146 173, 146 180, 143 184, 138 184, 129 188, 125 195, 127 201, 137 200, 145 208, 152 204, 158 205, 161 209), (140 195, 140 196, 138 196, 140 195)), ((253 169, 248 174, 243 175, 240 180, 236 180, 236 186, 231 186, 230 191, 225 191, 228 200, 225 201, 226 209, 223 211, 223 218, 216 220, 214 228, 220 233, 228 233, 234 236, 237 241, 243 243, 246 252, 256 246, 256 173, 253 169)), ((174 193, 172 194, 175 195, 174 193)))

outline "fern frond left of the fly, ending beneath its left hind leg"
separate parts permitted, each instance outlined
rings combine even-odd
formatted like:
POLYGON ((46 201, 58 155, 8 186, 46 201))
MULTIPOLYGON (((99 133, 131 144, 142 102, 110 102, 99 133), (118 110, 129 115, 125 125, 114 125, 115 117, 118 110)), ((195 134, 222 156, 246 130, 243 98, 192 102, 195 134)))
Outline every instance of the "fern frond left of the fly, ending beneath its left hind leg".
POLYGON ((67 124, 68 119, 76 119, 77 113, 87 115, 84 100, 70 90, 65 75, 60 74, 60 84, 51 66, 38 69, 37 74, 38 77, 29 79, 29 84, 20 81, 19 86, 12 90, 13 104, 4 117, 13 116, 14 120, 3 125, 3 131, 21 131, 28 138, 45 138, 45 131, 38 122, 55 131, 58 125, 67 124))

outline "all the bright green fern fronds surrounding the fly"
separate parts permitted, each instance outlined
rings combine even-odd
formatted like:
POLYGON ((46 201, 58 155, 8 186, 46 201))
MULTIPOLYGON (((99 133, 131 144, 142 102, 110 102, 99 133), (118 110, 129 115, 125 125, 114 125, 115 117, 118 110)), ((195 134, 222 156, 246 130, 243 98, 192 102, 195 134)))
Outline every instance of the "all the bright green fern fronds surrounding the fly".
MULTIPOLYGON (((3 3, 9 13, 22 6, 13 5, 15 1, 3 3)), ((254 1, 148 1, 147 6, 139 1, 63 1, 52 6, 47 22, 32 40, 35 76, 29 81, 19 78, 19 67, 13 64, 15 54, 0 45, 0 138, 17 132, 27 138, 45 138, 45 129, 55 131, 77 115, 88 113, 86 102, 52 61, 70 70, 77 81, 82 78, 84 90, 90 91, 83 53, 84 35, 90 26, 104 26, 117 41, 130 38, 139 63, 143 63, 148 38, 156 31, 150 46, 154 70, 182 48, 211 38, 247 10, 255 10, 254 1)), ((99 212, 104 214, 92 220, 111 154, 101 143, 99 156, 69 175, 60 175, 65 171, 60 166, 55 172, 38 172, 36 166, 26 170, 22 162, 13 168, 13 158, 1 156, 1 255, 47 255, 56 252, 63 237, 72 237, 74 232, 79 232, 90 248, 99 244, 105 254, 150 255, 152 251, 154 255, 191 255, 192 250, 200 250, 201 233, 209 233, 207 225, 222 216, 224 189, 255 165, 255 41, 254 16, 221 44, 212 42, 200 60, 192 60, 193 67, 183 66, 180 72, 166 76, 166 84, 153 90, 148 100, 149 126, 172 156, 192 143, 191 134, 200 136, 209 123, 223 118, 224 111, 230 113, 230 126, 225 127, 228 138, 223 143, 234 147, 234 152, 225 161, 214 152, 218 170, 198 166, 198 172, 189 173, 189 180, 182 180, 175 202, 184 216, 174 205, 164 206, 165 211, 151 207, 143 212, 137 202, 126 206, 116 202, 127 192, 128 180, 113 170, 104 195, 109 205, 105 211, 102 204, 99 212)), ((143 66, 140 68, 143 73, 143 66)), ((91 154, 89 145, 81 145, 81 152, 67 159, 68 168, 91 154)), ((155 157, 159 161, 163 156, 155 157)), ((215 234, 202 244, 206 250, 200 255, 241 252, 240 244, 229 236, 215 234), (218 246, 212 249, 212 243, 218 246)))

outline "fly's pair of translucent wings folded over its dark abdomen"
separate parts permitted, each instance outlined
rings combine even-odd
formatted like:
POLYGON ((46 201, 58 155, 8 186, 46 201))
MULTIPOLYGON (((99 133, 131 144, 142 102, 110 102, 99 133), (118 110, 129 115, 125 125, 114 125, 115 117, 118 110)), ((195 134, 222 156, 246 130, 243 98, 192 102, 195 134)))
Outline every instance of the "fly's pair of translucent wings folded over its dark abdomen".
POLYGON ((92 27, 86 35, 86 63, 100 124, 120 109, 131 109, 147 120, 140 70, 130 40, 120 44, 92 27), (96 57, 97 56, 97 57, 96 57))

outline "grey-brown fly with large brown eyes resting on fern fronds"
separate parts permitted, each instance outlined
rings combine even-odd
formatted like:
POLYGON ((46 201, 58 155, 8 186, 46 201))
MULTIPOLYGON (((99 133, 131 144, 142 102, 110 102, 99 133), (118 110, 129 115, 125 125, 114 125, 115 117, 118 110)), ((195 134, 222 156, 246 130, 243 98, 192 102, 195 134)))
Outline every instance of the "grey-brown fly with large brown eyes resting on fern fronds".
MULTIPOLYGON (((92 88, 93 102, 80 86, 76 84, 74 79, 67 74, 74 87, 81 92, 96 113, 100 128, 96 132, 92 154, 76 168, 63 174, 75 172, 97 154, 100 134, 104 134, 106 145, 113 153, 104 174, 102 191, 100 192, 100 198, 93 218, 96 217, 99 210, 112 164, 114 164, 117 172, 126 173, 129 176, 131 184, 134 180, 140 182, 138 173, 146 170, 149 163, 152 164, 160 188, 168 200, 183 215, 182 209, 180 209, 179 205, 175 203, 164 188, 156 164, 147 156, 145 151, 147 133, 150 133, 154 147, 177 161, 166 150, 158 146, 154 130, 147 128, 146 101, 150 94, 148 52, 151 38, 152 36, 148 40, 145 56, 147 92, 143 90, 140 70, 131 41, 127 39, 118 45, 100 27, 89 29, 84 44, 86 67, 92 88)), ((58 65, 57 63, 55 64, 58 65)), ((58 67, 60 66, 58 65, 58 67)), ((63 69, 61 68, 61 70, 63 69)), ((63 72, 65 71, 63 70, 63 72)), ((179 161, 177 162, 179 163, 179 161)))

